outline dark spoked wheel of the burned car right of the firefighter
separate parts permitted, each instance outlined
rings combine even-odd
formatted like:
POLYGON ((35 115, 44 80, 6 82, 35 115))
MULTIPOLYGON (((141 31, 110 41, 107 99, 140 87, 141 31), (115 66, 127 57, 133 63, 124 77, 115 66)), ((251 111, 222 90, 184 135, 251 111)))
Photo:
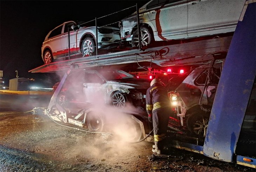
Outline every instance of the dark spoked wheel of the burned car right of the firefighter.
POLYGON ((187 127, 189 131, 199 137, 206 137, 210 113, 202 110, 192 112, 188 115, 187 127))

